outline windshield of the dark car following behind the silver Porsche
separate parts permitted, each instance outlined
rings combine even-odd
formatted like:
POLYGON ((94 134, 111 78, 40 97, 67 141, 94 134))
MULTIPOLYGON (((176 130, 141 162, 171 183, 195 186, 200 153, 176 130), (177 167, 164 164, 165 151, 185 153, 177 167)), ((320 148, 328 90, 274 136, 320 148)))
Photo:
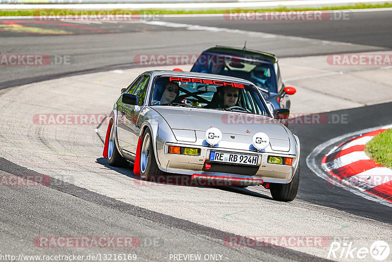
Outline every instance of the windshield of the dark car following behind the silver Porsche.
POLYGON ((253 57, 203 53, 197 58, 191 72, 246 79, 268 92, 276 93, 277 87, 272 64, 251 58, 253 57))

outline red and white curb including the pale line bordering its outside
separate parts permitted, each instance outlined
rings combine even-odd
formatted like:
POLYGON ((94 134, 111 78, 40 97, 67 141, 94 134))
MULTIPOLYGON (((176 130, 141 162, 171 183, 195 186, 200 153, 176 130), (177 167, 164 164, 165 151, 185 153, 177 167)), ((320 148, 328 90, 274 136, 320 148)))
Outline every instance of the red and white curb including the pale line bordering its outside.
MULTIPOLYGON (((365 144, 392 125, 356 131, 328 140, 308 157, 308 167, 329 184, 340 186, 368 200, 392 207, 392 170, 378 165, 364 152, 365 144), (353 137, 333 148, 320 162, 317 156, 327 147, 353 137)), ((318 158, 319 159, 319 158, 318 158)))

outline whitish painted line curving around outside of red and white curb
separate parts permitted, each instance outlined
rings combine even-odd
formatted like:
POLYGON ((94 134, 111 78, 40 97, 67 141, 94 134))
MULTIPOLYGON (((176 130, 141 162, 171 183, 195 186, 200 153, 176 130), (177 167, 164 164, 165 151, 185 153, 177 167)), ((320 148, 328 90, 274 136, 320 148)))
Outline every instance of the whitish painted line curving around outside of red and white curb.
MULTIPOLYGON (((329 147, 329 146, 331 146, 331 145, 333 145, 333 144, 335 144, 335 143, 338 143, 339 141, 342 141, 343 139, 348 138, 348 137, 350 137, 350 136, 368 133, 368 132, 370 132, 370 131, 374 131, 374 130, 377 130, 377 129, 389 129, 389 128, 392 128, 392 125, 380 126, 380 127, 376 127, 376 128, 368 128, 368 129, 364 129, 364 130, 360 130, 360 131, 355 131, 355 132, 351 132, 351 133, 348 133, 348 134, 343 134, 343 135, 341 135, 341 136, 332 138, 332 139, 330 139, 330 140, 328 140, 328 141, 326 141, 326 142, 324 142, 324 143, 322 143, 322 144, 319 144, 319 145, 309 154, 309 156, 306 157, 306 164, 308 165, 308 167, 310 168, 310 170, 312 170, 313 173, 315 173, 318 177, 320 177, 320 178, 322 178, 322 179, 328 181, 328 180, 330 180, 330 175, 328 175, 328 174, 326 173, 326 171, 324 171, 324 170, 322 170, 322 169, 320 168, 320 167, 321 167, 321 162, 320 162, 320 163, 316 163, 316 157, 317 157, 325 148, 327 148, 327 147, 329 147)), ((363 198, 365 198, 365 199, 368 199, 368 200, 377 202, 377 203, 379 203, 379 204, 382 204, 382 205, 385 205, 385 206, 388 206, 388 207, 392 207, 392 203, 389 203, 389 202, 387 202, 387 201, 385 201, 385 200, 383 200, 383 199, 381 199, 381 198, 379 198, 379 197, 370 195, 370 194, 368 194, 368 193, 361 192, 359 189, 353 188, 353 187, 351 187, 351 186, 349 186, 349 185, 348 185, 348 186, 343 186, 343 189, 345 189, 345 190, 347 190, 347 191, 350 191, 351 193, 356 194, 356 195, 358 195, 358 196, 361 196, 361 197, 363 197, 363 198)))

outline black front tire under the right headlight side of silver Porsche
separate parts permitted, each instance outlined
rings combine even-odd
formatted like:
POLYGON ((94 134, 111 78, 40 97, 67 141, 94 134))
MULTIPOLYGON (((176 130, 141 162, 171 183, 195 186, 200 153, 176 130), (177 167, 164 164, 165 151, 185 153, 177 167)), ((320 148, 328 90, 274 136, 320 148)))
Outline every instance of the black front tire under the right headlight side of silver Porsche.
POLYGON ((300 166, 298 163, 293 180, 290 183, 270 183, 270 192, 274 200, 290 202, 293 201, 297 195, 299 187, 300 166))

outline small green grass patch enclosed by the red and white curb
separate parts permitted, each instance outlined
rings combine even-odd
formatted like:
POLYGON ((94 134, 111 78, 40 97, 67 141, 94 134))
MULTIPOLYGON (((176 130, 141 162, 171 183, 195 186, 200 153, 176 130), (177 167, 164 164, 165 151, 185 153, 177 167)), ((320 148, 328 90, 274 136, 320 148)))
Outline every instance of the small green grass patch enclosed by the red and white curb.
POLYGON ((373 137, 366 144, 365 151, 377 164, 392 168, 392 129, 373 137))

